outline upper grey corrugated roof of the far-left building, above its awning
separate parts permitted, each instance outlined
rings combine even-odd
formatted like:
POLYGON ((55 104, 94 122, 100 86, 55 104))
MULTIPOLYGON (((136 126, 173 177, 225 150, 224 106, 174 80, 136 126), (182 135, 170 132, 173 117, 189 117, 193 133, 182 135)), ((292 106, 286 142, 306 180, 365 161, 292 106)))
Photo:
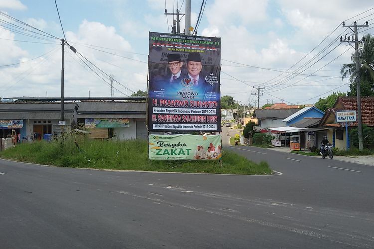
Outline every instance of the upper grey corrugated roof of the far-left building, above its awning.
MULTIPOLYGON (((77 103, 64 103, 64 110, 73 111, 77 106, 77 103)), ((16 111, 56 111, 61 109, 60 103, 18 103, 18 102, 7 102, 0 103, 0 112, 16 112, 16 111)))

